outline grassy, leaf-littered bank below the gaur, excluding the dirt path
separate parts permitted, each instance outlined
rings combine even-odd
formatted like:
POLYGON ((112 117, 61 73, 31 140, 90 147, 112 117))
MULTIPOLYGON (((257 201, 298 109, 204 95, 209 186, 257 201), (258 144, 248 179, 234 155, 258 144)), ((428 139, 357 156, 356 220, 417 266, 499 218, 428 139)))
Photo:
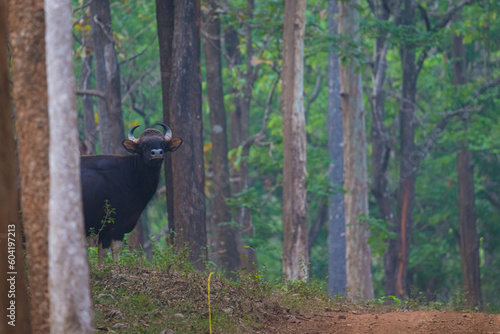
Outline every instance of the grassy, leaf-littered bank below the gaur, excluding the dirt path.
MULTIPOLYGON (((188 251, 156 246, 152 259, 122 251, 120 265, 97 269, 97 251, 89 249, 95 325, 119 333, 209 333, 208 275, 187 260, 188 251)), ((216 272, 211 279, 214 333, 252 333, 284 321, 289 314, 329 311, 381 313, 391 311, 468 310, 462 296, 455 303, 428 302, 422 294, 401 300, 393 296, 352 302, 328 296, 322 282, 269 282, 264 272, 239 273, 234 282, 216 272)))

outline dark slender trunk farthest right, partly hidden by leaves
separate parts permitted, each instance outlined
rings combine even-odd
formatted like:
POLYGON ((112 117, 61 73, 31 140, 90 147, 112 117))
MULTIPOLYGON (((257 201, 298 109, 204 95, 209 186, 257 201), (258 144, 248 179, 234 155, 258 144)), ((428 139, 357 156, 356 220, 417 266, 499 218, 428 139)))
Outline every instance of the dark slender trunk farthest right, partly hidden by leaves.
MULTIPOLYGON (((452 37, 453 84, 467 82, 465 47, 463 36, 452 37)), ((467 129, 465 121, 465 129, 467 129)), ((479 238, 476 227, 476 204, 474 191, 474 164, 467 140, 459 143, 457 152, 458 207, 460 211, 460 254, 462 256, 462 280, 467 304, 481 305, 481 272, 479 269, 479 238)))

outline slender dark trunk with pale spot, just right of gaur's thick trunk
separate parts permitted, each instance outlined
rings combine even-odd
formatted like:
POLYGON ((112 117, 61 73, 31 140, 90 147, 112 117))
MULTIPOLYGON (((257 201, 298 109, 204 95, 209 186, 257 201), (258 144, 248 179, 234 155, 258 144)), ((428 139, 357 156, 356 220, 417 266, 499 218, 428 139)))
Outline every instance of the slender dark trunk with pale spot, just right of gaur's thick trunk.
POLYGON ((207 71, 207 92, 210 106, 210 127, 212 137, 212 169, 214 173, 214 213, 216 226, 215 251, 218 263, 229 277, 238 269, 239 256, 236 233, 231 222, 231 211, 226 199, 231 196, 229 184, 229 162, 227 158, 227 126, 224 91, 222 86, 221 23, 217 2, 209 2, 209 13, 204 25, 208 37, 205 39, 205 64, 207 71))

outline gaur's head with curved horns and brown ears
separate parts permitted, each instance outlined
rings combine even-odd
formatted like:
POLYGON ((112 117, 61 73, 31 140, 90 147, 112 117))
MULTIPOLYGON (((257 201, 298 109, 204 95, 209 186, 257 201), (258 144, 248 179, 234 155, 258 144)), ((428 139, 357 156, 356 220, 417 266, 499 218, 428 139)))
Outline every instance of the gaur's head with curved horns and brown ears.
POLYGON ((128 140, 122 142, 123 147, 130 153, 135 153, 142 157, 144 163, 151 167, 159 167, 163 162, 165 153, 173 152, 182 145, 181 138, 172 138, 172 130, 163 124, 156 123, 165 129, 165 134, 156 129, 148 128, 141 133, 139 139, 134 137, 134 130, 139 125, 134 126, 128 133, 128 140))

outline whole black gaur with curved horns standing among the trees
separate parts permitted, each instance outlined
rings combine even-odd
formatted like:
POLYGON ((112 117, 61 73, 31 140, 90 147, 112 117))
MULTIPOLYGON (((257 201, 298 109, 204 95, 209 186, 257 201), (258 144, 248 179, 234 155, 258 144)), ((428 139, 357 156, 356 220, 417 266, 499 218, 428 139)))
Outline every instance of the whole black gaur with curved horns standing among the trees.
MULTIPOLYGON (((125 233, 131 232, 142 211, 153 197, 160 179, 161 165, 167 152, 177 150, 182 139, 172 138, 168 126, 165 135, 156 129, 144 130, 139 139, 130 129, 123 147, 134 155, 82 156, 80 163, 83 213, 87 236, 98 234, 98 264, 104 264, 104 250, 111 247, 113 261, 118 262, 125 233), (105 219, 105 203, 114 214, 111 223, 105 219), (104 223, 104 224, 103 224, 104 223)), ((108 211, 109 213, 109 211, 108 211)))

